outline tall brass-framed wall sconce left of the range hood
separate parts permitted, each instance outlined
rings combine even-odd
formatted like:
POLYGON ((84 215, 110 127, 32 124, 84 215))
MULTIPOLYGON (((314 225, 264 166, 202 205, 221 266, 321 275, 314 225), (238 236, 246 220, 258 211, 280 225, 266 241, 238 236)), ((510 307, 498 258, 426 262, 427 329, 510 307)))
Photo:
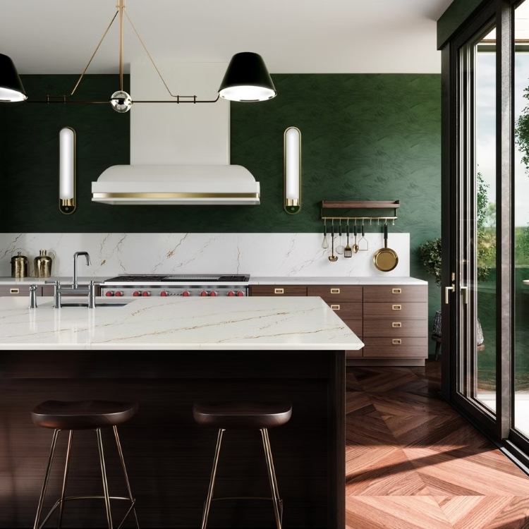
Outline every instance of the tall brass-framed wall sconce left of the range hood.
POLYGON ((59 209, 70 215, 75 211, 75 130, 61 128, 59 133, 59 209))

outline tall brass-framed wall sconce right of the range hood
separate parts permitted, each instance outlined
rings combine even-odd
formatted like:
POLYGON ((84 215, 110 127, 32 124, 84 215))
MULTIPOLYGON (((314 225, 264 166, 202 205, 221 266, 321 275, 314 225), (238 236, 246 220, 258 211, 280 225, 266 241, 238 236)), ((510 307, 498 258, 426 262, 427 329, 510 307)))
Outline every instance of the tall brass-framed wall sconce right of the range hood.
POLYGON ((284 134, 284 207, 295 215, 301 209, 301 132, 288 127, 284 134))

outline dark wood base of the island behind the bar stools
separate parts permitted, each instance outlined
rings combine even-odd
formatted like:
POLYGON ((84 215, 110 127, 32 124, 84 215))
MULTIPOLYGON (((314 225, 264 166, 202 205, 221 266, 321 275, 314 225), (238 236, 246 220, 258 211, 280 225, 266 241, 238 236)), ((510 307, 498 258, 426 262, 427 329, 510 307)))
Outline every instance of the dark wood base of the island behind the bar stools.
MULTIPOLYGON (((291 401, 291 420, 270 431, 284 527, 345 528, 345 351, 6 351, 0 384, 1 528, 29 529, 35 520, 51 432, 35 427, 30 411, 45 400, 83 399, 140 403, 120 435, 141 528, 200 527, 217 432, 195 424, 192 408, 217 400, 291 401)), ((111 434, 103 431, 109 488, 120 495, 111 434)), ((49 503, 62 485, 62 435, 49 503)), ((226 433, 214 497, 270 496, 258 436, 226 433)), ((75 435, 68 495, 101 493, 95 446, 95 432, 75 435)), ((64 528, 107 527, 101 501, 81 503, 66 504, 64 528)), ((125 508, 115 503, 119 521, 125 508)), ((208 527, 274 528, 272 502, 213 501, 208 527)))

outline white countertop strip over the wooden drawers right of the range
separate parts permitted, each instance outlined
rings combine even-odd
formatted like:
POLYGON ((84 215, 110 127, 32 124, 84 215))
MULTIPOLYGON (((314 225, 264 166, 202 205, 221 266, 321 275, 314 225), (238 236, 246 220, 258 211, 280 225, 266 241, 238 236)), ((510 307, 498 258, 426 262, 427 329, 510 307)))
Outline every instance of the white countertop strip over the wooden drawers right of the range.
POLYGON ((351 276, 351 277, 259 277, 250 276, 250 285, 427 285, 415 277, 351 276))

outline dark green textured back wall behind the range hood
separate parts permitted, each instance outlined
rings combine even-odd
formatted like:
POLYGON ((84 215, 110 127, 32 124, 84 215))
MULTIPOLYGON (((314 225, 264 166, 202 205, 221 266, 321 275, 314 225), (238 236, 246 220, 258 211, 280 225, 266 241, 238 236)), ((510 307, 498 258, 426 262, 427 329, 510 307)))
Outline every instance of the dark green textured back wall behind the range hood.
MULTIPOLYGON (((77 76, 22 78, 35 99, 71 90, 77 76)), ((411 275, 430 279, 418 262, 418 245, 441 231, 440 75, 272 78, 276 98, 231 104, 231 163, 247 167, 260 181, 260 206, 91 202, 91 182, 108 166, 129 163, 128 114, 117 114, 107 104, 0 105, 3 231, 310 232, 322 229, 322 199, 401 200, 390 241, 391 231, 410 232, 411 275), (61 214, 57 205, 63 126, 73 127, 78 140, 78 209, 71 216, 61 214), (302 134, 303 206, 293 216, 283 209, 283 133, 288 126, 302 134)), ((88 75, 78 97, 105 99, 117 85, 116 75, 88 75)), ((438 308, 439 288, 430 281, 431 317, 438 308)))

